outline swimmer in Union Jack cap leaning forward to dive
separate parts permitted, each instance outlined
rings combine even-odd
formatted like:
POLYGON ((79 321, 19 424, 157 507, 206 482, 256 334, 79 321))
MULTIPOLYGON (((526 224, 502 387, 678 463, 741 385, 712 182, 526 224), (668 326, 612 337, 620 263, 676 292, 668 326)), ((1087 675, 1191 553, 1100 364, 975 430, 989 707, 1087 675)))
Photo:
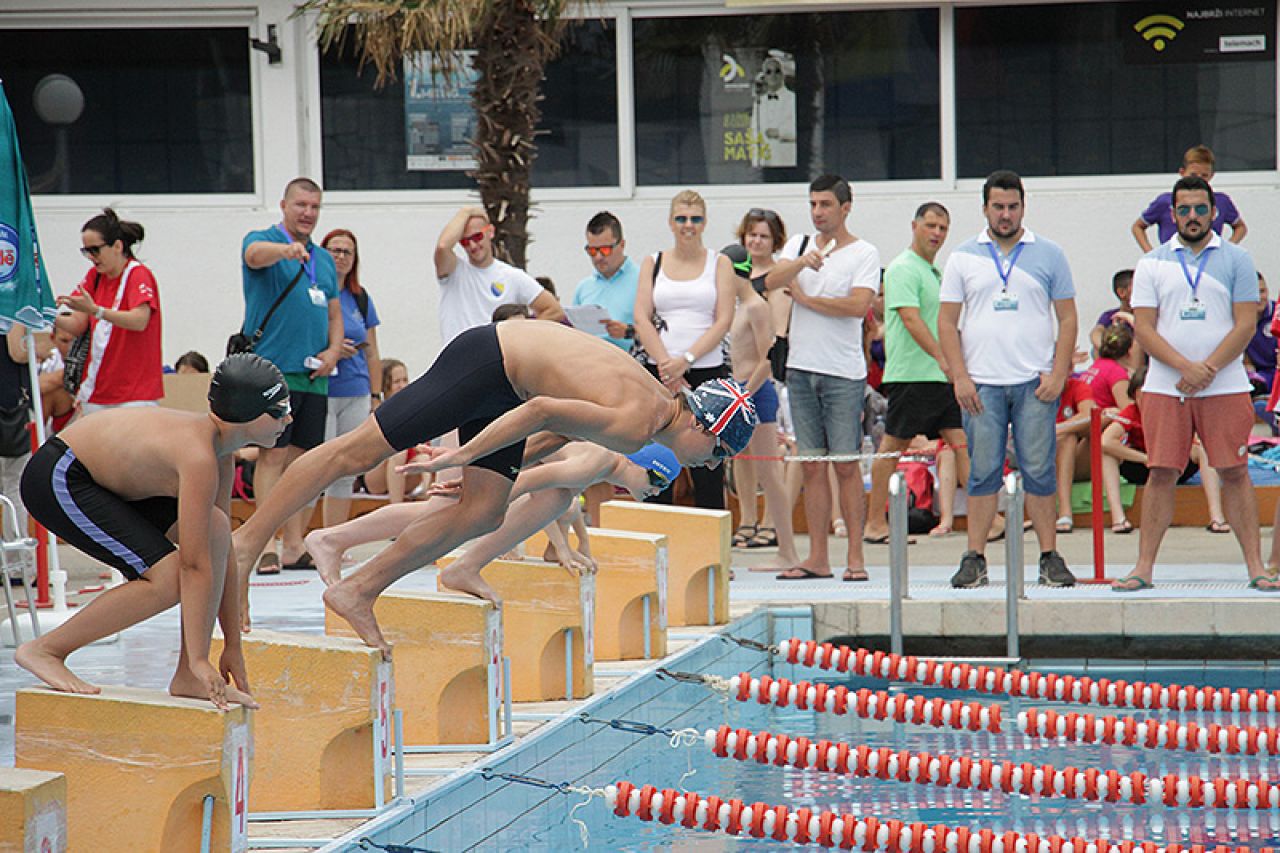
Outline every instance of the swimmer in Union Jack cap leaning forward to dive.
POLYGON ((234 533, 244 612, 252 561, 285 519, 339 476, 367 471, 453 429, 462 446, 433 447, 419 470, 462 466, 457 503, 411 523, 324 594, 325 605, 385 656, 390 646, 374 619, 374 601, 413 569, 497 530, 524 464, 576 438, 620 453, 658 442, 682 465, 716 466, 746 447, 755 424, 750 397, 732 379, 672 396, 630 355, 584 332, 554 323, 470 329, 364 424, 300 456, 234 533))

